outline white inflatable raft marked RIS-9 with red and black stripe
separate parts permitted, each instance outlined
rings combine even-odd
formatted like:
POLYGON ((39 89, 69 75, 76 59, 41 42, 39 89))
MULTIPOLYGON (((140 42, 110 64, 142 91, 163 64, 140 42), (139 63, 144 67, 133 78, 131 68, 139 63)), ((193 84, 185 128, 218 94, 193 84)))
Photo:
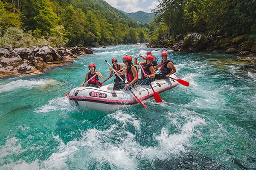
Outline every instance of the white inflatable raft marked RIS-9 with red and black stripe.
MULTIPOLYGON (((172 78, 177 79, 175 74, 172 78)), ((161 94, 178 85, 178 82, 169 79, 159 79, 151 82, 154 91, 161 94)), ((150 85, 138 85, 132 88, 134 94, 141 100, 154 98, 154 93, 150 85)), ((127 105, 136 105, 139 102, 130 91, 113 91, 113 83, 104 85, 101 88, 78 87, 73 88, 68 96, 71 105, 81 109, 91 109, 97 111, 115 111, 127 105)))

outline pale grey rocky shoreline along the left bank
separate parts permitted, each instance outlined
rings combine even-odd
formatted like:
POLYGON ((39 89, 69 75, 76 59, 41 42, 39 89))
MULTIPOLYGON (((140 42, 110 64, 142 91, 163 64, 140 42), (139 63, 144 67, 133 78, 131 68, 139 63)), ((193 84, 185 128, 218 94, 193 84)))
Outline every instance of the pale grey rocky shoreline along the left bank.
POLYGON ((40 45, 32 48, 0 48, 0 77, 20 74, 42 74, 47 68, 67 65, 79 55, 92 54, 91 48, 52 48, 40 45))

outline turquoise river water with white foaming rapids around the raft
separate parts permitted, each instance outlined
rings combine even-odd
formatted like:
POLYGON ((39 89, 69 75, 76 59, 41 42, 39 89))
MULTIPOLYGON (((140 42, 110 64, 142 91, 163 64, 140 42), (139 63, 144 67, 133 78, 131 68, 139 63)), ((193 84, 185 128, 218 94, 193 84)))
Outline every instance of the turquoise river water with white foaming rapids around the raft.
MULTIPOLYGON (((0 78, 0 169, 256 169, 256 66, 214 53, 168 51, 179 79, 163 103, 111 113, 71 107, 64 95, 95 62, 152 54, 145 45, 94 53, 41 75, 0 78)), ((113 82, 113 79, 105 82, 113 82)))

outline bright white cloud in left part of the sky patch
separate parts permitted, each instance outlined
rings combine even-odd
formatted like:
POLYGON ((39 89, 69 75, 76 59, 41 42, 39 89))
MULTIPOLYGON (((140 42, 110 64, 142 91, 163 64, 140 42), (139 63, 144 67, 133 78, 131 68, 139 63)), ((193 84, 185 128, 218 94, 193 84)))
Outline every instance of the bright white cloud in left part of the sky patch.
POLYGON ((111 6, 121 9, 125 12, 143 11, 143 8, 138 6, 139 0, 105 0, 111 6))

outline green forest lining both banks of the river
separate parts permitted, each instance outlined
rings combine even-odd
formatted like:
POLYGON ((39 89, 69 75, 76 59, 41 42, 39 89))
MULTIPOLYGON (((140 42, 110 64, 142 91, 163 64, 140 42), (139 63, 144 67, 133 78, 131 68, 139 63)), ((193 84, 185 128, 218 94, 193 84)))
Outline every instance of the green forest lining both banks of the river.
POLYGON ((160 0, 150 26, 104 0, 0 0, 0 47, 158 42, 220 30, 256 41, 256 0, 160 0))

